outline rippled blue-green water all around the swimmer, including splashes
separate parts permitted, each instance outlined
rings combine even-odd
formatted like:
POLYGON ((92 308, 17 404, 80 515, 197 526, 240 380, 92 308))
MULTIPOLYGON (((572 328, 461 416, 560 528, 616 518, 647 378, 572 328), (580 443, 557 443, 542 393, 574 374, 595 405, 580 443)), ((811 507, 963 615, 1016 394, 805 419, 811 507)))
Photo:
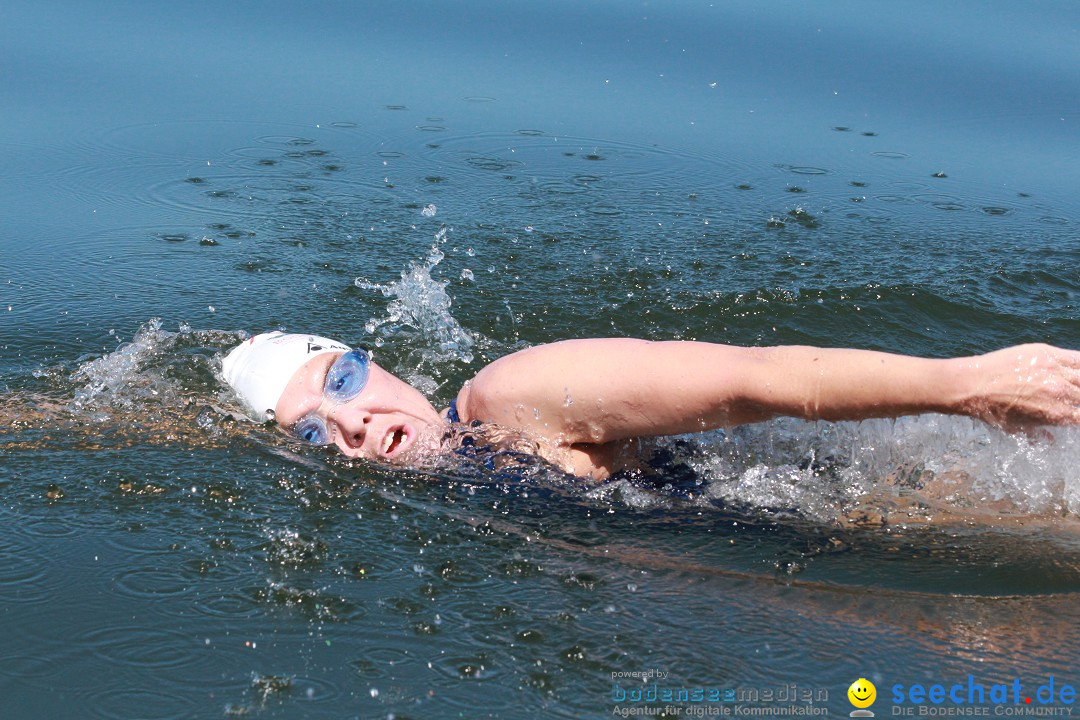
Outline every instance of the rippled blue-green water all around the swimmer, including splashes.
MULTIPOLYGON (((5 717, 608 717, 1078 679, 1080 434, 775 421, 595 486, 231 420, 244 331, 1080 345, 1069 3, 4 9, 5 717)), ((442 405, 440 405, 442 407, 442 405)), ((685 712, 684 712, 685 716, 685 712)), ((879 716, 880 717, 880 716, 879 716)))

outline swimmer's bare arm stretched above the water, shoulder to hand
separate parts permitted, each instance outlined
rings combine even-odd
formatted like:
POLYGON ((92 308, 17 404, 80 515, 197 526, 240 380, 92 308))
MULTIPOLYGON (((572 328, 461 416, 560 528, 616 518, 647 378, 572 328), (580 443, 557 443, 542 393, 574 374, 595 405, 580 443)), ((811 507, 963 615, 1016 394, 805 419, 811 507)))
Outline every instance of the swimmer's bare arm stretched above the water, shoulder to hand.
POLYGON ((1080 353, 1021 345, 954 359, 807 347, 569 340, 496 361, 459 396, 468 420, 604 444, 767 420, 920 412, 1002 425, 1080 422, 1080 353))

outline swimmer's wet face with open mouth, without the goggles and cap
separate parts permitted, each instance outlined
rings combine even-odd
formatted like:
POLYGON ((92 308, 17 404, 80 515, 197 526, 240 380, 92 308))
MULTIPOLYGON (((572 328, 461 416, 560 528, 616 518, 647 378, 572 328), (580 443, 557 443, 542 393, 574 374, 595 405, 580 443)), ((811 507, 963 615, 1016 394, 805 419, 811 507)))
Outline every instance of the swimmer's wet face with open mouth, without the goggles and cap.
POLYGON ((330 441, 350 458, 403 462, 426 430, 443 424, 428 398, 375 363, 360 395, 342 404, 326 400, 326 372, 340 356, 318 355, 293 375, 274 408, 282 427, 291 431, 301 418, 316 415, 330 441))

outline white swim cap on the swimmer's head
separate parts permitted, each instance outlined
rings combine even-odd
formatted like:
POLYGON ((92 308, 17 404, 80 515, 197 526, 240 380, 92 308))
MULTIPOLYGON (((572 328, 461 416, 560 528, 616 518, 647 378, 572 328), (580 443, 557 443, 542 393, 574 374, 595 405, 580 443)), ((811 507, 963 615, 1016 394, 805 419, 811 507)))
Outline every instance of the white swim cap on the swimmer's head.
POLYGON ((315 335, 264 332, 233 348, 221 363, 221 372, 262 422, 273 417, 285 386, 305 363, 323 353, 349 350, 343 342, 315 335))

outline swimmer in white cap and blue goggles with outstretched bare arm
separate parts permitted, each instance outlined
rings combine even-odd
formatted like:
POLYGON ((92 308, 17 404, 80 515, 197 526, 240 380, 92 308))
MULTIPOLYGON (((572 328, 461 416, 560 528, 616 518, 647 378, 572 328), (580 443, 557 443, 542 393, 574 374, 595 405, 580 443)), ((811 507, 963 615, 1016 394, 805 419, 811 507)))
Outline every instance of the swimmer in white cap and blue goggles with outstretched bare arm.
POLYGON ((360 348, 257 335, 229 352, 226 381, 259 421, 346 456, 410 464, 448 422, 537 438, 576 475, 620 468, 627 443, 774 417, 865 420, 940 412, 1003 427, 1080 423, 1080 352, 1045 344, 930 359, 866 350, 690 341, 565 340, 501 357, 436 410, 360 348))

